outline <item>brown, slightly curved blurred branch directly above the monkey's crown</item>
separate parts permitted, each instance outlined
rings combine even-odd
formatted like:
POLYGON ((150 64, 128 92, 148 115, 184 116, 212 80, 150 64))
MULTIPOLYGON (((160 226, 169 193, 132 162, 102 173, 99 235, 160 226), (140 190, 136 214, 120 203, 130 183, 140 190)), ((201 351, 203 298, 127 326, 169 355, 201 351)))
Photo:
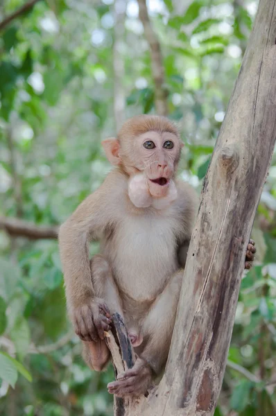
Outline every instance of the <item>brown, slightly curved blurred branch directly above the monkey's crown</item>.
POLYGON ((150 48, 151 69, 155 83, 155 109, 159 116, 168 114, 167 92, 164 87, 164 64, 162 60, 161 47, 157 35, 153 31, 148 17, 146 0, 138 0, 139 19, 144 26, 144 33, 150 48))

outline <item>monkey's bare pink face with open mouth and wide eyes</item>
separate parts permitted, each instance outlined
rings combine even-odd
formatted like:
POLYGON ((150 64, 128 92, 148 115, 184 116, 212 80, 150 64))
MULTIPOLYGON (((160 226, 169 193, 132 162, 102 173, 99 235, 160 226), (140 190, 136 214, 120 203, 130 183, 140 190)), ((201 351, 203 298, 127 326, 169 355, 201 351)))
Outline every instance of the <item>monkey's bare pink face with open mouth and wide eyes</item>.
POLYGON ((134 141, 135 167, 146 175, 150 195, 166 196, 180 157, 181 144, 170 132, 149 131, 134 141))

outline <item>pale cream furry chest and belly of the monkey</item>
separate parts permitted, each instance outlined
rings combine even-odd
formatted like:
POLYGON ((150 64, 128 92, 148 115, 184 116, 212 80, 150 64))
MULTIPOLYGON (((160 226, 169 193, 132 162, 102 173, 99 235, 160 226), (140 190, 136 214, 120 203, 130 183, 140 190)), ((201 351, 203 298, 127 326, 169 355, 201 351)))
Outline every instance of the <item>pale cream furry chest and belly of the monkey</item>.
POLYGON ((112 247, 114 279, 126 295, 139 302, 154 300, 178 268, 175 236, 171 224, 162 218, 123 221, 112 247))

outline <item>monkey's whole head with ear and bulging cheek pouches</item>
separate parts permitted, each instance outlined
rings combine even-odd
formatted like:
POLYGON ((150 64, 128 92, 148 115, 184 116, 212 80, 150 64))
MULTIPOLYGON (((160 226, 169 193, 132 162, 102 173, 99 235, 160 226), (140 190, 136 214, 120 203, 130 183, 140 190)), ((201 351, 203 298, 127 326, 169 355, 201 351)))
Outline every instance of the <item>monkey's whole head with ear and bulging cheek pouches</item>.
POLYGON ((117 138, 103 141, 107 159, 129 175, 128 192, 137 207, 176 198, 173 178, 182 146, 171 121, 145 114, 126 121, 117 138))

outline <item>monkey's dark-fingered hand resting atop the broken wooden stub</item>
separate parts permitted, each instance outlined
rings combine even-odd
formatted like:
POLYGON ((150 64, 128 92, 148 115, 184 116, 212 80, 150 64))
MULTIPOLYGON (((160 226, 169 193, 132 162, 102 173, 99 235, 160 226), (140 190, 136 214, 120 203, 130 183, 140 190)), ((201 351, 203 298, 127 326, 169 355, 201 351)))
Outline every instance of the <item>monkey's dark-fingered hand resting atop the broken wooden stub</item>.
POLYGON ((72 318, 76 334, 81 340, 90 342, 103 340, 103 331, 109 331, 112 322, 107 305, 98 297, 75 308, 72 318))

